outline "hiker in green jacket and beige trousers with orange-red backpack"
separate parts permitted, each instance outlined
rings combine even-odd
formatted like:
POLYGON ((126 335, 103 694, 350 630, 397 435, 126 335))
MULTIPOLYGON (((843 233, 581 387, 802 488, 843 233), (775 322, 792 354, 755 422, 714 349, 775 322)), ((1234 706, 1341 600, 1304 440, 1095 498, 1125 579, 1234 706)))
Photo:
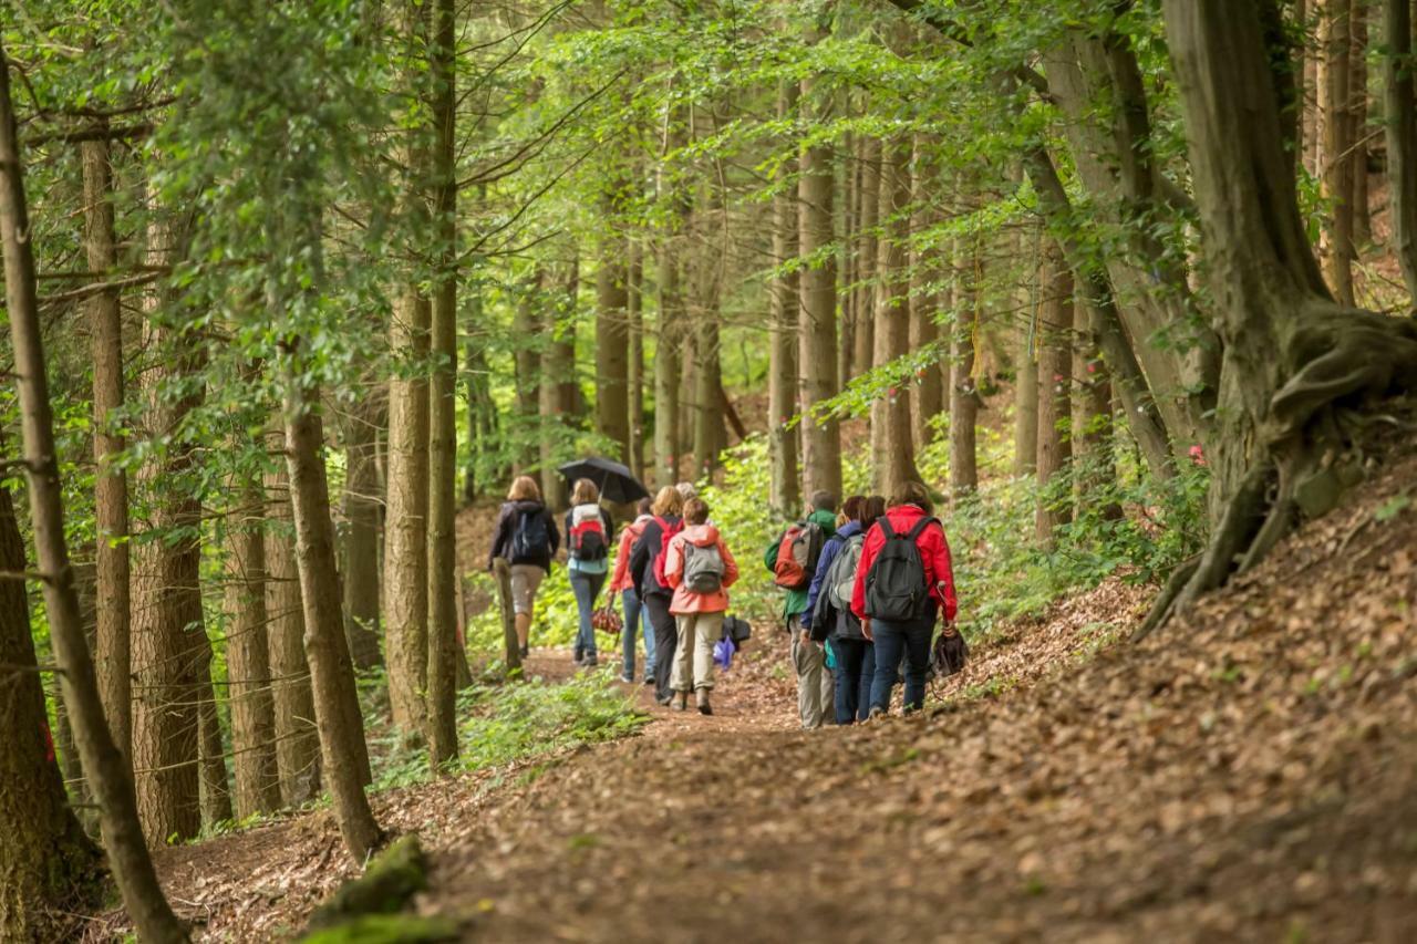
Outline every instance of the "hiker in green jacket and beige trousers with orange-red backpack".
POLYGON ((806 595, 812 587, 826 539, 836 533, 836 513, 832 510, 836 499, 830 492, 812 495, 812 510, 805 520, 796 522, 762 553, 762 563, 772 571, 772 581, 785 594, 782 600, 782 624, 792 639, 792 668, 798 678, 798 716, 803 729, 820 727, 835 700, 835 685, 826 670, 826 653, 811 641, 803 642, 801 632, 802 614, 806 612, 806 595))

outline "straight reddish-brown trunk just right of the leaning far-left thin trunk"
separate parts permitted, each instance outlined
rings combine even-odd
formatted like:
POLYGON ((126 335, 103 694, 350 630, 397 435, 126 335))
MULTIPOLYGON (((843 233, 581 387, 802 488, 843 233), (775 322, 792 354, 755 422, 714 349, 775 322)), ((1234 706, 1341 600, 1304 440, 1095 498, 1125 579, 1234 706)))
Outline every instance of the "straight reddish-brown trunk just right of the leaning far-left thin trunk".
MULTIPOLYGON (((118 268, 113 240, 113 170, 106 139, 79 145, 84 160, 84 245, 89 271, 103 279, 118 268)), ((108 289, 88 302, 94 356, 94 524, 98 532, 98 636, 94 659, 99 695, 113 741, 132 755, 132 608, 129 602, 128 476, 112 458, 123 451, 116 411, 123 408, 123 319, 119 293, 108 289)))

